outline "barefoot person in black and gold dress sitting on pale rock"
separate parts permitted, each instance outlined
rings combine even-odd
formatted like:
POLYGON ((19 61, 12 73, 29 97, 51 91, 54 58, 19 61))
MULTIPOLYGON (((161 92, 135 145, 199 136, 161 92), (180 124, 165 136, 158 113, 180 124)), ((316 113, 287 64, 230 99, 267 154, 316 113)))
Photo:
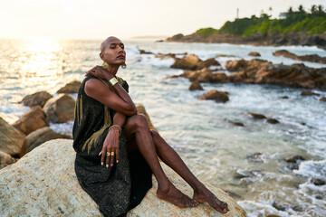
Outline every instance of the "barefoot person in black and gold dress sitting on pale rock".
POLYGON ((158 180, 159 199, 178 207, 209 203, 228 212, 220 201, 187 168, 177 152, 149 129, 130 99, 129 86, 116 76, 126 66, 120 39, 110 36, 101 43, 102 66, 86 72, 78 92, 72 129, 76 151, 75 173, 105 216, 125 215, 151 188, 151 175, 158 180), (181 193, 168 180, 158 157, 194 189, 193 198, 181 193))

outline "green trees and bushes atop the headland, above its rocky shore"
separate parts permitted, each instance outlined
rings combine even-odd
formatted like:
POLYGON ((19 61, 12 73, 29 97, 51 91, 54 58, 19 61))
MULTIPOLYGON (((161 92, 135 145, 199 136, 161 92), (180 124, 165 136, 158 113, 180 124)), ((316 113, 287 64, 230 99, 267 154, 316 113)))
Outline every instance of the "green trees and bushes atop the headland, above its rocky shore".
MULTIPOLYGON (((272 11, 272 8, 269 10, 272 11)), ((254 33, 326 32, 326 11, 323 10, 322 5, 312 5, 310 11, 311 13, 307 13, 302 5, 299 6, 298 11, 293 11, 290 7, 286 13, 283 13, 283 19, 270 19, 271 15, 262 12, 260 17, 252 15, 251 18, 227 21, 219 30, 203 28, 196 33, 206 37, 217 33, 232 33, 247 37, 254 33)))

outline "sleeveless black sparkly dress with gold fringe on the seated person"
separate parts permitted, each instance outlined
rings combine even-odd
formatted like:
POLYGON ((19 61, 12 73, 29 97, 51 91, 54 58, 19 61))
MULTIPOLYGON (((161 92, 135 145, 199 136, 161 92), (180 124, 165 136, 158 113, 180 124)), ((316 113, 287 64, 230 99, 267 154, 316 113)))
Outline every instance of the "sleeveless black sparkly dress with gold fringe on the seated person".
MULTIPOLYGON (((75 106, 72 129, 75 173, 82 189, 99 205, 104 216, 125 216, 151 188, 152 172, 139 151, 127 152, 124 127, 120 135, 119 163, 109 168, 101 165, 99 153, 116 111, 86 95, 85 82, 90 79, 97 78, 88 75, 82 81, 75 106)), ((128 83, 117 79, 128 91, 128 83)))

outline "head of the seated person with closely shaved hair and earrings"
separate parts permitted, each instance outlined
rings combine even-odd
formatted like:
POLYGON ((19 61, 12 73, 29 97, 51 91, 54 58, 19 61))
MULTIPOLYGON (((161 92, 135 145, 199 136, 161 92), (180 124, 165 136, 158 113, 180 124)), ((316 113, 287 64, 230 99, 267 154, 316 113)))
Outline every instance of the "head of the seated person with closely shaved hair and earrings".
POLYGON ((101 52, 100 56, 102 61, 106 61, 110 65, 121 65, 126 61, 124 44, 120 39, 110 37, 106 42, 104 52, 101 52))

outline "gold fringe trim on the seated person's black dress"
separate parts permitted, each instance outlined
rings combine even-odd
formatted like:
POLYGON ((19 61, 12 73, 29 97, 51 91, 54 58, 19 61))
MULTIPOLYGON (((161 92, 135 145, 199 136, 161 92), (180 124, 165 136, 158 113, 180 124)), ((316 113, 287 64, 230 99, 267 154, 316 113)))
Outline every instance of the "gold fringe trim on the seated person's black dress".
MULTIPOLYGON (((122 86, 122 79, 119 78, 119 77, 116 77, 117 80, 119 81, 120 85, 122 86)), ((101 79, 100 79, 101 80, 101 79)), ((110 88, 110 85, 105 82, 104 80, 101 80, 108 88, 110 88)), ((82 99, 81 99, 82 100, 82 99)), ((81 101, 80 100, 80 101, 81 101)), ((76 103, 77 104, 77 103, 76 103)), ((90 153, 91 152, 91 146, 92 144, 94 144, 94 147, 97 146, 98 142, 99 142, 99 138, 101 136, 101 134, 104 132, 104 130, 107 128, 107 127, 110 127, 111 125, 111 118, 110 118, 110 112, 109 112, 109 108, 105 105, 104 106, 104 124, 103 126, 96 132, 94 132, 91 137, 89 137, 86 142, 84 143, 84 145, 82 146, 82 151, 85 150, 86 146, 87 146, 87 153, 90 153)), ((80 104, 80 108, 82 108, 82 103, 80 104)), ((82 109, 79 110, 80 114, 82 114, 82 109)), ((80 123, 79 121, 81 120, 81 118, 78 120, 78 123, 80 123)), ((82 122, 82 120, 81 120, 82 122)), ((79 124, 80 125, 80 124, 79 124)))

